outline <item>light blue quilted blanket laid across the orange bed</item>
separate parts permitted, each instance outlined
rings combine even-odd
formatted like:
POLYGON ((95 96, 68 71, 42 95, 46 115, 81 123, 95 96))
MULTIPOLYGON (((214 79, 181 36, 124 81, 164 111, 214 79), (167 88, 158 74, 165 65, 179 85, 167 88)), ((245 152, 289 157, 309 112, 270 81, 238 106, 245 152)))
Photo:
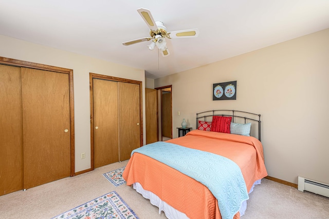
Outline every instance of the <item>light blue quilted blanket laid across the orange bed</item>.
POLYGON ((223 219, 231 219, 248 200, 240 167, 226 157, 206 151, 156 142, 133 150, 166 164, 204 184, 218 200, 223 219))

